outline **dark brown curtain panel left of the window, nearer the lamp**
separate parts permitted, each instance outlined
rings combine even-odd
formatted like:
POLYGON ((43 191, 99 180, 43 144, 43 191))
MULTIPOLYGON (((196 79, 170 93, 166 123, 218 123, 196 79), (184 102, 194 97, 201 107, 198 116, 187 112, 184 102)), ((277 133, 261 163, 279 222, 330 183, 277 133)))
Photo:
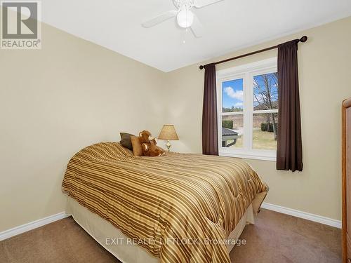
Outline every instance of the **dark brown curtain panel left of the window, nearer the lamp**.
POLYGON ((216 65, 205 66, 202 108, 202 154, 218 155, 216 65))

